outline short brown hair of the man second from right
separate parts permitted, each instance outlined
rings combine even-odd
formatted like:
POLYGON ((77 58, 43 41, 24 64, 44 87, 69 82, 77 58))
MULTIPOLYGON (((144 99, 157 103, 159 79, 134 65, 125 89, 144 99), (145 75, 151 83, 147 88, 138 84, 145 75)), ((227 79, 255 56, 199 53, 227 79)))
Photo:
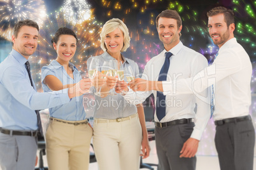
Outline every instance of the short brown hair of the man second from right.
POLYGON ((177 11, 174 11, 174 10, 164 10, 161 13, 159 13, 159 15, 157 15, 157 18, 155 18, 155 23, 157 24, 157 27, 158 27, 158 20, 159 20, 160 17, 173 18, 174 20, 177 21, 178 28, 180 28, 180 26, 182 25, 180 15, 178 14, 177 11))

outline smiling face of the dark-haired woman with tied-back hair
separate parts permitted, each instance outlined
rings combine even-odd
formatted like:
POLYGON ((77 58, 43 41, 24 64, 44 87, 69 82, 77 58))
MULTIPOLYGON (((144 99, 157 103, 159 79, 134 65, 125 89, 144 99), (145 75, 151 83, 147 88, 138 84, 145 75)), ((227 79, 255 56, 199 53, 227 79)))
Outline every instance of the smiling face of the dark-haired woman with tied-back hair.
POLYGON ((57 62, 61 65, 68 64, 76 53, 76 38, 71 35, 62 34, 57 44, 53 42, 53 48, 57 52, 57 62))

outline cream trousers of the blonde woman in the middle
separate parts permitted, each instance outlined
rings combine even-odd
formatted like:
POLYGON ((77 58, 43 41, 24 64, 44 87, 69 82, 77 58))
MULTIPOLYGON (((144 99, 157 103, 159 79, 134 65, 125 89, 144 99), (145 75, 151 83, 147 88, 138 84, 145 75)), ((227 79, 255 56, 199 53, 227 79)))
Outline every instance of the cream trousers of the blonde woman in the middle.
POLYGON ((141 141, 138 114, 121 122, 108 119, 94 121, 93 144, 99 170, 139 169, 141 141))

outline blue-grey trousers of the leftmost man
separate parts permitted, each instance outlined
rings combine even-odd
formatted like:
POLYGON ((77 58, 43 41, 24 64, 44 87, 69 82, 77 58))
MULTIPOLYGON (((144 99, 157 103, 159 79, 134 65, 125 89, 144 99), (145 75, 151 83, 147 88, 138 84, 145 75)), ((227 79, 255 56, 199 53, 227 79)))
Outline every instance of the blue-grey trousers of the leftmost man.
POLYGON ((0 133, 0 166, 2 170, 32 170, 36 164, 35 137, 0 133))

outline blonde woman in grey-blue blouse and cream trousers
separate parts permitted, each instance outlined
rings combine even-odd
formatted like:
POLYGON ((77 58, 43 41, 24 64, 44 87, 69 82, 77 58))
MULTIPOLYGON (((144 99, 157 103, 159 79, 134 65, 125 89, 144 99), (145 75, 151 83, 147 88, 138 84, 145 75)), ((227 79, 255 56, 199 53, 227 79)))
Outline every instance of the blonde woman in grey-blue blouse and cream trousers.
MULTIPOLYGON (((102 71, 104 61, 117 60, 124 68, 130 67, 134 75, 139 74, 137 63, 125 58, 121 52, 130 46, 129 31, 121 20, 113 18, 101 30, 101 48, 104 53, 92 58, 99 59, 102 71)), ((127 74, 127 73, 126 73, 127 74)), ((106 84, 101 91, 109 91, 106 84)), ((120 94, 96 96, 94 114, 94 151, 99 170, 139 169, 139 155, 148 157, 150 147, 145 126, 145 115, 141 105, 131 105, 120 94)))

